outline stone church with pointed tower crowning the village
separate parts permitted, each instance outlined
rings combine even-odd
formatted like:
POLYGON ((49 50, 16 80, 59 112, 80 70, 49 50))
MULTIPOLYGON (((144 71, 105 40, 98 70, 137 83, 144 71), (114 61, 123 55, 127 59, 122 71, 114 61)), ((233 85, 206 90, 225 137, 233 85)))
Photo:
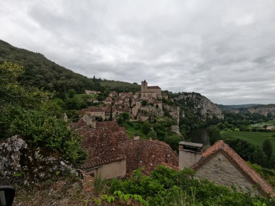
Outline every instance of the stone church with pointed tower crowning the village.
POLYGON ((159 86, 148 86, 146 80, 142 81, 141 99, 150 100, 151 98, 162 98, 162 89, 159 86))

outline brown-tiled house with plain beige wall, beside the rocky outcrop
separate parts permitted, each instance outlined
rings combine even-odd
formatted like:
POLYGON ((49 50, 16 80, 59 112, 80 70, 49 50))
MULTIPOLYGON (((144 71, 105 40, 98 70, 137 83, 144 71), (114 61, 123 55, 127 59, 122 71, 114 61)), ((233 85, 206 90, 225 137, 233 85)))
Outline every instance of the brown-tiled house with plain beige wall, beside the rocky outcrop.
POLYGON ((126 156, 118 142, 129 140, 125 128, 116 122, 96 122, 95 128, 79 129, 82 146, 88 152, 83 170, 91 176, 101 174, 104 179, 126 175, 126 156))

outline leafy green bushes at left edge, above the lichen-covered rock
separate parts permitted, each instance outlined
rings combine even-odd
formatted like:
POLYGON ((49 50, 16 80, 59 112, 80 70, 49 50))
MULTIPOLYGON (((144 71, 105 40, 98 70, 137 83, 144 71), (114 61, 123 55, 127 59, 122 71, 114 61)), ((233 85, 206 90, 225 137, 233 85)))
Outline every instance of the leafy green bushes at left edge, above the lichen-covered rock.
POLYGON ((82 138, 67 129, 61 107, 51 93, 17 82, 23 71, 18 64, 0 65, 0 139, 21 135, 32 144, 61 152, 72 163, 82 162, 82 138))

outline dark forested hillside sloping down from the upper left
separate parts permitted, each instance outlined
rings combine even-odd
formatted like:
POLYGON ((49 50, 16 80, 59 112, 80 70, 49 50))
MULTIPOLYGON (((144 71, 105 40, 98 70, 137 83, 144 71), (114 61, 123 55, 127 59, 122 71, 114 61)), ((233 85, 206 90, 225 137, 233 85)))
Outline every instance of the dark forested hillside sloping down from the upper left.
POLYGON ((0 40, 0 64, 5 61, 19 62, 25 67, 20 82, 49 91, 68 91, 75 89, 83 93, 85 89, 100 90, 100 84, 78 73, 57 65, 43 54, 19 49, 0 40))

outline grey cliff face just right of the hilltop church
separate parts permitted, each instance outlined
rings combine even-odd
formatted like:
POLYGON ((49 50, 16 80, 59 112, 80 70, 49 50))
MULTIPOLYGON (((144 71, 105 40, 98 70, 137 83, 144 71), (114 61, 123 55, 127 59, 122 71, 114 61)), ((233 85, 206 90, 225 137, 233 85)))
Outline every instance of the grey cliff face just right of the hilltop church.
MULTIPOLYGON (((221 109, 217 104, 212 103, 208 98, 199 93, 181 93, 175 98, 179 104, 191 108, 195 114, 200 115, 202 119, 206 117, 217 117, 223 119, 221 109)), ((184 113, 183 113, 184 114, 184 113)))

